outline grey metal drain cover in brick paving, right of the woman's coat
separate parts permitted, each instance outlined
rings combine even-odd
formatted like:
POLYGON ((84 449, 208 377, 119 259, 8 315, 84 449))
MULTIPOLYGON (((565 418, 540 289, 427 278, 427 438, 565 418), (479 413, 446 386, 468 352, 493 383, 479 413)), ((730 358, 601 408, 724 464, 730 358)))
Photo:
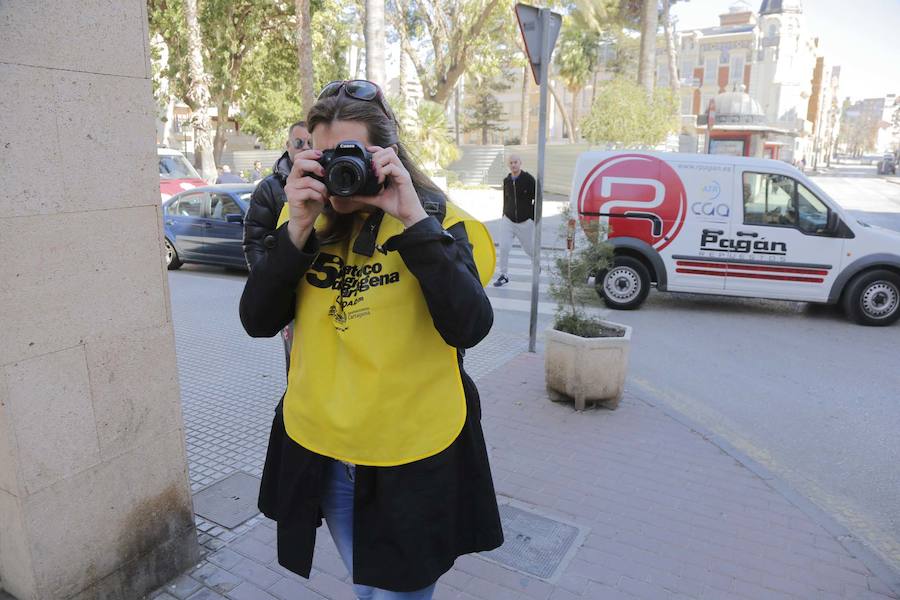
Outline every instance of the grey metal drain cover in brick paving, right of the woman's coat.
POLYGON ((503 545, 481 556, 540 579, 553 579, 581 533, 574 525, 509 504, 500 505, 500 521, 503 545))

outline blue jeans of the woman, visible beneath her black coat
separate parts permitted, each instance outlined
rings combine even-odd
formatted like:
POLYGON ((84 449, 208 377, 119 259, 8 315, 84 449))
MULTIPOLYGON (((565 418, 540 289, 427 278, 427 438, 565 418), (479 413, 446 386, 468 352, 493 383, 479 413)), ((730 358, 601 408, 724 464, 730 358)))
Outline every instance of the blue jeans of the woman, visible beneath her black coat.
MULTIPOLYGON (((344 565, 353 574, 353 487, 356 468, 333 460, 326 467, 322 514, 331 532, 334 545, 344 565)), ((391 592, 368 585, 353 584, 353 591, 359 600, 431 600, 434 594, 432 583, 415 592, 391 592)))

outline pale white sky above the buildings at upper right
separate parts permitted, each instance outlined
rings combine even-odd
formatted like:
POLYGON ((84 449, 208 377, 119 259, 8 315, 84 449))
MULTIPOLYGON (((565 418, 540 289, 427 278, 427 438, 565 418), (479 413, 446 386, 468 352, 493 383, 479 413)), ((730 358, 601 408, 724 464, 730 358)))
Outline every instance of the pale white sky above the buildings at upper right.
MULTIPOLYGON (((746 0, 758 11, 761 0, 746 0)), ((672 6, 679 30, 719 24, 736 0, 688 0, 672 6)), ((900 94, 900 0, 804 0, 805 27, 819 38, 826 65, 841 66, 840 96, 900 94)))

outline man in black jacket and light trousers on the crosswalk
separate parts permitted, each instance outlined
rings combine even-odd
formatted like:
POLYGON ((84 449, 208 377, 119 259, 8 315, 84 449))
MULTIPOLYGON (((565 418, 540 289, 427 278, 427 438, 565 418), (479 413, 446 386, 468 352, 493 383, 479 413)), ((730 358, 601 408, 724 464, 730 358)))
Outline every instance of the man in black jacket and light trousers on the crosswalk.
POLYGON ((509 157, 509 175, 503 180, 503 217, 500 220, 500 275, 494 285, 509 283, 509 249, 515 236, 522 250, 532 256, 534 242, 535 181, 522 170, 522 159, 517 154, 509 157))

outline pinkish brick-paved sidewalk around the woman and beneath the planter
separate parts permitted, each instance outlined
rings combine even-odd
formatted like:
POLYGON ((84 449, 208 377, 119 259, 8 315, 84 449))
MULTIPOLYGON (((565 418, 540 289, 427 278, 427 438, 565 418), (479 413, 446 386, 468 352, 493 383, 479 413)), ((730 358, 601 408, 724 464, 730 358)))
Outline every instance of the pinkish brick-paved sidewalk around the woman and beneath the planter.
MULTIPOLYGON (((653 399, 626 391, 616 411, 576 413, 547 400, 542 356, 509 360, 509 344, 502 352, 478 382, 500 502, 586 536, 554 584, 466 556, 441 578, 437 600, 898 598, 822 525, 653 399)), ((278 566, 268 519, 227 541, 199 525, 215 551, 152 598, 353 598, 325 528, 307 581, 278 566)))

